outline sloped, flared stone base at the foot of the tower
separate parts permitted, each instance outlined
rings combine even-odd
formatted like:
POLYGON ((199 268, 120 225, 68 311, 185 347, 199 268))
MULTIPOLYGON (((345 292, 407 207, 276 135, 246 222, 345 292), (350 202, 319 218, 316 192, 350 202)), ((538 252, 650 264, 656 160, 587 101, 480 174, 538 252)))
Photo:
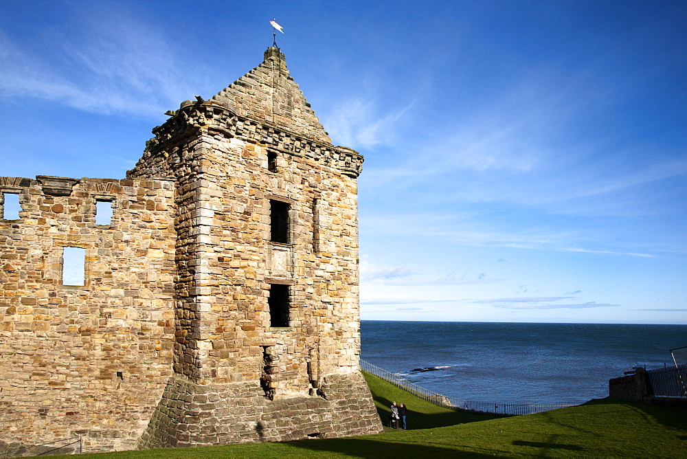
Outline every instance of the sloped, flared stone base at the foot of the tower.
POLYGON ((325 377, 321 393, 269 400, 259 381, 200 385, 175 375, 138 447, 201 447, 382 432, 372 395, 359 372, 325 377))

